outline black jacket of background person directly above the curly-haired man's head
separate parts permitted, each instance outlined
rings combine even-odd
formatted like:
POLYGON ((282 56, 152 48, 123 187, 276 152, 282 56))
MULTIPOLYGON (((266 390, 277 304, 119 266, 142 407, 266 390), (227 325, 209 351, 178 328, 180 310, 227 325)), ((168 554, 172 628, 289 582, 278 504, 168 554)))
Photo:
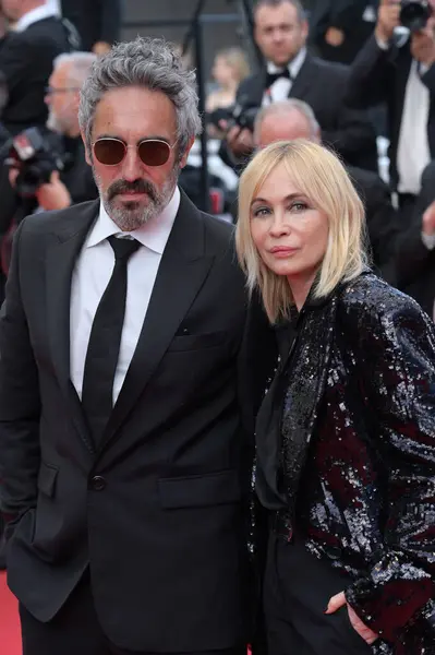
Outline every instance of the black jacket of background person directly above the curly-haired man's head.
POLYGON ((92 50, 97 41, 119 40, 122 4, 122 0, 62 0, 61 9, 77 29, 83 50, 92 50))

